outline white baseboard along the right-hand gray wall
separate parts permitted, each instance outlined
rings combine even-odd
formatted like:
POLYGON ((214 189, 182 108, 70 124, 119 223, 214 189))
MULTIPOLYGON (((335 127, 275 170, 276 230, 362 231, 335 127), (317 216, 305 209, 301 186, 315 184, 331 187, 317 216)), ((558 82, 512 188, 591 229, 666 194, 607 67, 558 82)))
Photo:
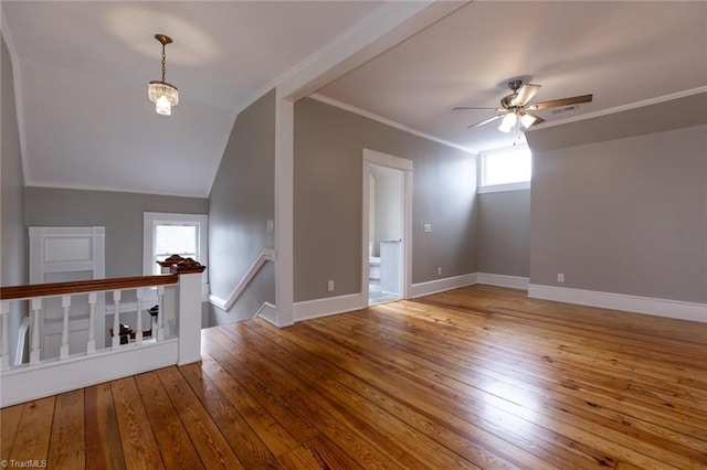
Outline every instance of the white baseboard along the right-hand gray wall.
POLYGON ((707 303, 654 299, 651 297, 541 286, 537 284, 528 285, 528 297, 707 323, 707 303))

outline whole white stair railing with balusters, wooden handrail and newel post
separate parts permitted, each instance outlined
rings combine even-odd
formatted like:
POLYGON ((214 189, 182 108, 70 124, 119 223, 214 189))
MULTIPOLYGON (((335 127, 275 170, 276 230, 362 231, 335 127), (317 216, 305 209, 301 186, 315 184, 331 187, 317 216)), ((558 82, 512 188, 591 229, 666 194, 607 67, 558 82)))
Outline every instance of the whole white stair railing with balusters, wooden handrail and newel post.
POLYGON ((157 276, 1 287, 0 406, 201 360, 201 273, 204 269, 205 266, 187 258, 171 265, 169 274, 157 276), (152 291, 157 311, 148 340, 143 330, 141 312, 146 295, 152 291), (134 331, 120 322, 125 292, 135 293, 137 323, 134 331), (96 316, 106 314, 96 308, 102 293, 110 295, 113 300, 112 342, 96 349, 97 335, 105 334, 95 327, 96 316), (85 349, 71 351, 72 298, 76 296, 88 298, 88 332, 85 349), (40 329, 46 314, 44 306, 51 298, 61 299, 61 346, 59 357, 42 357, 40 329), (11 312, 18 309, 24 310, 23 314, 30 318, 29 361, 20 365, 10 362, 10 334, 13 332, 9 329, 9 320, 11 312))

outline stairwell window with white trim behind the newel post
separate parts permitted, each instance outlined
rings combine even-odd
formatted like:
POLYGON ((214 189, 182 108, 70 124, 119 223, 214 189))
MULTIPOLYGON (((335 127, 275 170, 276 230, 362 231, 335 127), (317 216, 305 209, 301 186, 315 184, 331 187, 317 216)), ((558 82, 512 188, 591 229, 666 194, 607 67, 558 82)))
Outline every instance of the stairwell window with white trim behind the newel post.
MULTIPOLYGON (((171 255, 192 258, 205 265, 209 260, 209 216, 205 214, 173 214, 146 212, 144 214, 143 274, 161 273, 158 260, 171 255)), ((203 284, 208 282, 207 271, 203 284)))

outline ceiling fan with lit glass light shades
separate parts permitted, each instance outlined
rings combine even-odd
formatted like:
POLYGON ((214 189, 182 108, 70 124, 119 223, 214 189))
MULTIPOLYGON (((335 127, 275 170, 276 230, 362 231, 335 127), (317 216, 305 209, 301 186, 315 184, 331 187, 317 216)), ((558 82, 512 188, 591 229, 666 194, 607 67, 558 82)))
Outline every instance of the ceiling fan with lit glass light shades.
POLYGON ((477 108, 469 106, 457 106, 454 110, 493 110, 498 111, 500 114, 496 116, 492 116, 488 119, 484 119, 479 122, 473 124, 467 127, 471 129, 472 127, 483 126, 488 122, 493 122, 496 119, 502 119, 500 126, 498 126, 498 130, 502 132, 509 132, 513 128, 516 127, 518 122, 524 127, 524 129, 529 128, 530 126, 538 125, 544 122, 540 116, 530 113, 540 109, 547 108, 556 108, 560 106, 570 106, 577 105, 580 103, 590 103, 592 100, 592 95, 581 95, 581 96, 572 96, 570 98, 561 98, 561 99, 552 99, 549 102, 541 102, 530 105, 529 102, 532 99, 538 89, 540 89, 540 85, 532 85, 529 83, 523 83, 521 79, 513 79, 508 82, 508 88, 513 92, 508 96, 504 96, 500 99, 500 108, 477 108))

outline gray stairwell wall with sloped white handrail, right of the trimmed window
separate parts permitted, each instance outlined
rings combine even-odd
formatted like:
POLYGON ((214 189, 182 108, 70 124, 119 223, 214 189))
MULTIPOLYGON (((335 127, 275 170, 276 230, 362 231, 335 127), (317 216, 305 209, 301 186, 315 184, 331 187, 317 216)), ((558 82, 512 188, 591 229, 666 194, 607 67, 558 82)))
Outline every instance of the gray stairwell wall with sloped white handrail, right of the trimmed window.
MULTIPOLYGON (((275 92, 243 110, 209 195, 211 292, 226 300, 265 248, 274 247, 267 221, 275 217, 275 92)), ((265 266, 230 312, 212 306, 211 324, 252 318, 275 301, 273 266, 265 266)))

